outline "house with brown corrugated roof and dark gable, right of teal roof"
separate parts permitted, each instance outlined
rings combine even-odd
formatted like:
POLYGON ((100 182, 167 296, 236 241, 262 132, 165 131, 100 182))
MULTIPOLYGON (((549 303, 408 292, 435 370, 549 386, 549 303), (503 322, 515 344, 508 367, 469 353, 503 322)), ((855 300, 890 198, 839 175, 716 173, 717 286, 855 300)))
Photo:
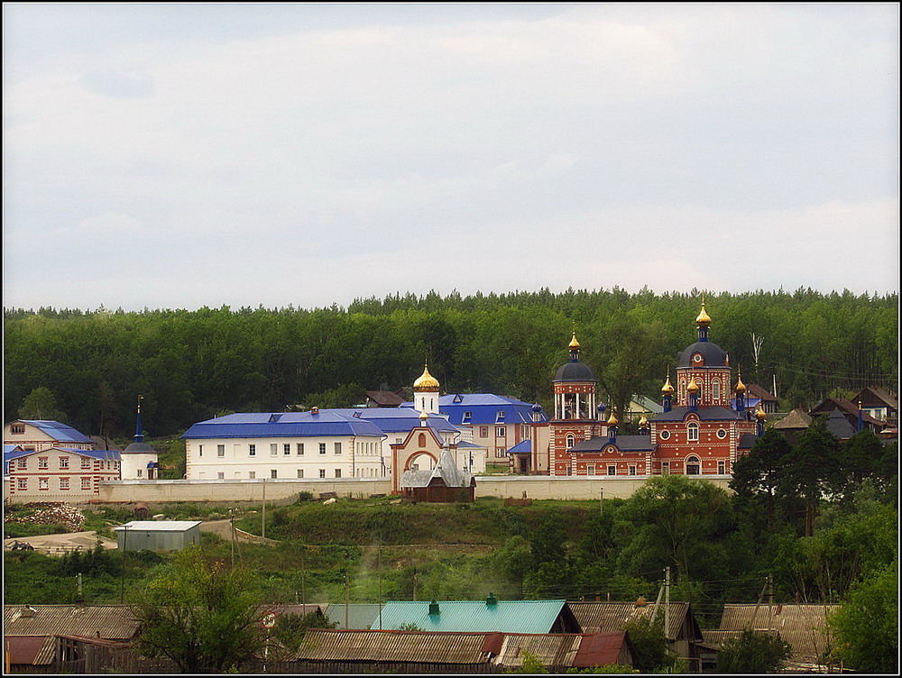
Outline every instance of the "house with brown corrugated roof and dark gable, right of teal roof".
POLYGON ((701 670, 702 630, 695 620, 692 606, 687 602, 649 604, 644 598, 636 602, 575 602, 567 603, 584 633, 622 631, 636 618, 667 619, 665 635, 676 655, 686 659, 689 669, 701 670))

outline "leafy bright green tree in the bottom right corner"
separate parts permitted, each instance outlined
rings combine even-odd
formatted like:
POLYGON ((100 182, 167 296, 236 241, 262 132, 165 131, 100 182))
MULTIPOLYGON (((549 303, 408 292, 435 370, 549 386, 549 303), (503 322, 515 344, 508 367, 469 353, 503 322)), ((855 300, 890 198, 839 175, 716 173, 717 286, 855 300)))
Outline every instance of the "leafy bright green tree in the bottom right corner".
POLYGON ((852 586, 828 623, 836 633, 835 653, 847 666, 898 674, 898 562, 852 586))

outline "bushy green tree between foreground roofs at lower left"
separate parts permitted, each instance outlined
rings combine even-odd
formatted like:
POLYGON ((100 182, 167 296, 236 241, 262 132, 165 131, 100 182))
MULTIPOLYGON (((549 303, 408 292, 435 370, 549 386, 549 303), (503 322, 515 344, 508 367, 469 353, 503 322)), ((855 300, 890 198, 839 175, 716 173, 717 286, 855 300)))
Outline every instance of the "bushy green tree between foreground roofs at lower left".
POLYGON ((248 573, 207 563, 198 546, 189 546, 135 606, 138 647, 169 657, 181 673, 222 673, 262 646, 259 602, 248 573))

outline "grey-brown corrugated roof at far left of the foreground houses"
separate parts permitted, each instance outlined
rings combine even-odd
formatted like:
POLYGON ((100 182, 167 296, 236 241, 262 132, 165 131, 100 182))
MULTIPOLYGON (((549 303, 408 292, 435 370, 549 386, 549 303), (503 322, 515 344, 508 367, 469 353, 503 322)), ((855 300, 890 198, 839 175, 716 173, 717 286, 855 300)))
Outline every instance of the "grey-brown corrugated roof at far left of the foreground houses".
POLYGON ((25 607, 4 606, 4 633, 128 640, 138 630, 138 621, 128 605, 32 605, 33 616, 23 617, 25 607))

